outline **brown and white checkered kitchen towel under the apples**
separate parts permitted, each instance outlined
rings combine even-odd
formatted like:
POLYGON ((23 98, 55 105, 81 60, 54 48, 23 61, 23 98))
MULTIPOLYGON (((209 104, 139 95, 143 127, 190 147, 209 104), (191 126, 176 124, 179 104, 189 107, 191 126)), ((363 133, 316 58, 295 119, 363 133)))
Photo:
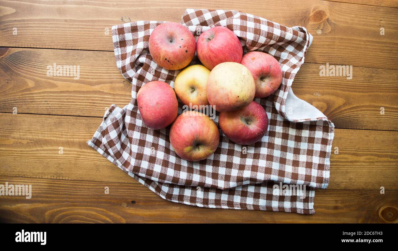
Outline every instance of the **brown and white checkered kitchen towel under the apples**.
MULTIPOLYGON (((133 83, 132 99, 124 108, 109 108, 88 144, 168 201, 314 214, 314 189, 326 188, 329 182, 334 125, 295 97, 290 88, 312 36, 303 27, 289 28, 238 11, 185 10, 180 23, 195 39, 209 27, 228 27, 240 38, 244 53, 271 54, 283 70, 282 84, 274 95, 255 99, 269 118, 269 129, 261 141, 244 147, 220 131, 219 148, 213 155, 188 162, 170 147, 170 127, 147 128, 137 108, 137 91, 144 83, 161 80, 173 87, 179 73, 159 67, 148 52, 149 35, 160 23, 137 21, 112 27, 116 64, 133 83), (301 188, 306 189, 303 196, 291 190, 286 193, 282 183, 305 185, 301 188)), ((191 64, 200 64, 196 56, 191 64)), ((181 107, 180 103, 179 113, 181 107)))

